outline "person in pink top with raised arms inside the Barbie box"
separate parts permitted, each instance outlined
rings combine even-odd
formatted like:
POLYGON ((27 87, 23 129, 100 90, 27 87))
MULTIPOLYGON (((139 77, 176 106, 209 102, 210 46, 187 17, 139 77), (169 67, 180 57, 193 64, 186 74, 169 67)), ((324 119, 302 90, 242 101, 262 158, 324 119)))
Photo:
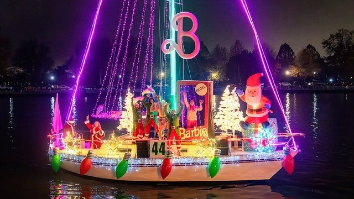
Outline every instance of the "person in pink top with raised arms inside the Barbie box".
POLYGON ((184 103, 187 107, 187 129, 198 126, 197 120, 197 111, 203 110, 203 100, 199 100, 199 107, 194 105, 194 100, 191 99, 188 103, 187 93, 183 92, 184 103))

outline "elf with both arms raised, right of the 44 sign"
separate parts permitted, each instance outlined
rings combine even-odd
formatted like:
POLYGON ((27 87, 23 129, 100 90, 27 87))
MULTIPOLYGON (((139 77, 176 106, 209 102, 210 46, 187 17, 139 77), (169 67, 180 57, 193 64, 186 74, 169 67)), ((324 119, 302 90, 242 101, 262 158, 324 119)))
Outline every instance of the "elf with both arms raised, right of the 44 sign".
POLYGON ((165 105, 165 114, 167 120, 169 121, 169 130, 167 131, 167 150, 171 150, 171 145, 173 140, 176 140, 178 155, 182 155, 181 153, 181 132, 179 131, 179 117, 181 117, 184 103, 182 103, 181 108, 179 108, 179 112, 176 114, 176 110, 171 110, 171 113, 167 111, 167 107, 169 104, 165 105))

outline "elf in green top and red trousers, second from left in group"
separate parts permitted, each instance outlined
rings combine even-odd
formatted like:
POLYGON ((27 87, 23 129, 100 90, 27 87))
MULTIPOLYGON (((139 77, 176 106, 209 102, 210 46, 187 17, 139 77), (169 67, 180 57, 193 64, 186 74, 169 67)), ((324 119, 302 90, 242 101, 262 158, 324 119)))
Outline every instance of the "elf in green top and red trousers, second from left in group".
POLYGON ((155 111, 151 111, 151 106, 153 106, 154 104, 154 98, 149 98, 149 102, 146 102, 146 99, 148 98, 147 95, 144 96, 143 98, 143 105, 146 107, 146 118, 145 118, 145 122, 144 122, 144 131, 145 131, 145 136, 144 138, 148 138, 150 135, 150 129, 151 126, 154 128, 154 130, 156 132, 159 132, 159 127, 158 127, 158 122, 157 122, 157 112, 155 111))

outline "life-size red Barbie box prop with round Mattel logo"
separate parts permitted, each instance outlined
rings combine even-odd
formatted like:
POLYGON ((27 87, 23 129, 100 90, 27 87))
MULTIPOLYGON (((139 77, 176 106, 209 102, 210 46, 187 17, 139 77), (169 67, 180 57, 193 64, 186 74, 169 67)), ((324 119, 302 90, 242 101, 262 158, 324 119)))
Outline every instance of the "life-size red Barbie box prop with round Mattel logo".
POLYGON ((177 81, 177 103, 180 107, 181 101, 184 101, 183 93, 187 93, 188 102, 193 99, 195 106, 199 107, 199 101, 202 100, 202 110, 197 111, 197 126, 187 128, 187 108, 185 107, 180 119, 181 140, 200 140, 203 136, 215 137, 214 121, 212 114, 212 81, 177 81))

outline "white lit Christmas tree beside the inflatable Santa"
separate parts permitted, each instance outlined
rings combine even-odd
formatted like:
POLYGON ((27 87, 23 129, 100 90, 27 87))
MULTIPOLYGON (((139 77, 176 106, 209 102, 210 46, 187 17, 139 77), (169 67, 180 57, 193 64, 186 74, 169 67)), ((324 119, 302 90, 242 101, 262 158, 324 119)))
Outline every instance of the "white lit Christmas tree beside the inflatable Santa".
POLYGON ((236 87, 230 92, 230 86, 226 87, 214 119, 219 129, 225 132, 231 130, 234 133, 242 130, 239 123, 244 120, 244 116, 240 110, 239 97, 234 94, 235 90, 236 87))

